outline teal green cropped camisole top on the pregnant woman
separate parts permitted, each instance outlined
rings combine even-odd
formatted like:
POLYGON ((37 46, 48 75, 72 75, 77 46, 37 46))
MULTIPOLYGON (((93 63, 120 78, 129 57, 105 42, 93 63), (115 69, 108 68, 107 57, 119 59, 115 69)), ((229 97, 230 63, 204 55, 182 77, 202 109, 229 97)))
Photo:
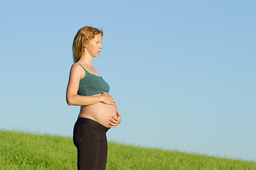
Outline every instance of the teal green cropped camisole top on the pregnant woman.
MULTIPOLYGON (((80 64, 80 63, 79 63, 80 64)), ((80 64, 80 66, 82 66, 80 64)), ((85 69, 85 67, 82 67, 85 69)), ((85 77, 82 77, 79 82, 78 95, 81 96, 92 96, 95 94, 102 94, 110 91, 110 86, 102 78, 95 74, 87 72, 85 69, 85 77)))

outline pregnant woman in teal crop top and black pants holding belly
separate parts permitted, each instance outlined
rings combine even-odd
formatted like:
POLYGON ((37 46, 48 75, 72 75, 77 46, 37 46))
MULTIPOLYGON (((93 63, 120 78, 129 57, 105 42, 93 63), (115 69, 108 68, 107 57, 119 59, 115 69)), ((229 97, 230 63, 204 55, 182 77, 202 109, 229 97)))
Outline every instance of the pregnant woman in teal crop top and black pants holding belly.
POLYGON ((106 132, 121 122, 110 86, 92 67, 92 58, 102 49, 102 30, 85 26, 73 41, 74 64, 66 99, 68 105, 80 106, 73 131, 78 149, 78 169, 105 169, 107 163, 106 132))

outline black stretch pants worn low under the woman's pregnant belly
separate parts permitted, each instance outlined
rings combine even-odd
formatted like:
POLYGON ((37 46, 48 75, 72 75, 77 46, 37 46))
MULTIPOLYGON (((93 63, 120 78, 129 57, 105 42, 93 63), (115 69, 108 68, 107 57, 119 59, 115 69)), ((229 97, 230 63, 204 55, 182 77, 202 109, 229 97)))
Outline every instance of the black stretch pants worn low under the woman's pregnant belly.
POLYGON ((73 131, 73 142, 78 149, 79 170, 105 170, 109 128, 88 118, 78 118, 73 131))

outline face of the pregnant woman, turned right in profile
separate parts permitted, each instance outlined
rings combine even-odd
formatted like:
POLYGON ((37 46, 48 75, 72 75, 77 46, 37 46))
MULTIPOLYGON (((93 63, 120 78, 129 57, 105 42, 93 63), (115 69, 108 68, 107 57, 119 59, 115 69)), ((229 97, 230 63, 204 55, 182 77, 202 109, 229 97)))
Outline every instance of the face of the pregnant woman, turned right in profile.
POLYGON ((102 49, 102 35, 97 34, 95 38, 90 40, 87 45, 85 45, 85 52, 88 52, 92 57, 97 57, 102 49))

